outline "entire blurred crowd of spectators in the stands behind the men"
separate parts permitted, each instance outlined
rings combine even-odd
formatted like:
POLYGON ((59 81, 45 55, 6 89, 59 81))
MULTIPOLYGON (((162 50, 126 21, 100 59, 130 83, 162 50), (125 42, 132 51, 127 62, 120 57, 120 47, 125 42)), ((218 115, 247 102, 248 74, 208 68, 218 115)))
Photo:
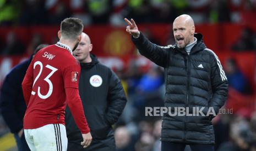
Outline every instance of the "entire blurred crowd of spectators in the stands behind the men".
MULTIPOLYGON (((85 25, 124 25, 123 18, 138 23, 168 23, 179 14, 189 14, 196 24, 256 22, 254 0, 0 0, 0 26, 59 25, 67 17, 83 20, 85 25)), ((144 31, 156 44, 157 39, 144 31)), ((172 34, 170 34, 172 37, 172 34)), ((1 55, 30 55, 37 45, 44 43, 35 34, 28 45, 15 32, 0 37, 1 55)), ((51 43, 57 42, 52 37, 51 43)), ((173 44, 170 38, 167 44, 173 44)), ((245 27, 230 49, 256 50, 256 32, 245 27)), ((219 114, 214 120, 216 150, 256 150, 255 82, 230 57, 222 62, 230 85, 226 109, 233 114, 219 114)), ((164 71, 152 65, 146 71, 136 61, 128 69, 115 69, 126 90, 128 102, 115 125, 118 151, 160 150, 161 117, 145 117, 145 107, 164 106, 164 71)), ((8 132, 0 116, 0 137, 8 132)), ((186 148, 189 150, 189 148, 186 148)))

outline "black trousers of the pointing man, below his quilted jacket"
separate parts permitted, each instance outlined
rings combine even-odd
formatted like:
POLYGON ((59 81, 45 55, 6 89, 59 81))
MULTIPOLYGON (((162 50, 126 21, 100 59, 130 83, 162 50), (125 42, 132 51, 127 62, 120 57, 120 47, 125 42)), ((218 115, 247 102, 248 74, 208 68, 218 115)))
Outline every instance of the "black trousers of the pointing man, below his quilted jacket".
POLYGON ((186 145, 189 145, 192 151, 214 151, 214 144, 186 144, 166 141, 162 141, 161 151, 184 151, 186 145))

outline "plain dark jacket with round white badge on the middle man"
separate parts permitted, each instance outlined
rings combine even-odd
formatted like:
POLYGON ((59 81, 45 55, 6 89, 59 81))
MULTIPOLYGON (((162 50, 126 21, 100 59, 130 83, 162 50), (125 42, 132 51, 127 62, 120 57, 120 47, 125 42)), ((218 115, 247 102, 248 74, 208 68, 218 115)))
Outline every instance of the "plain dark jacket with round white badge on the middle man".
MULTIPOLYGON (((110 146, 108 149, 110 151, 113 150, 111 146, 115 148, 111 125, 118 120, 127 100, 117 75, 110 68, 102 65, 95 55, 91 54, 90 56, 92 62, 80 63, 79 79, 79 95, 92 135, 92 144, 88 150, 99 150, 101 148, 99 143, 104 140, 103 143, 106 144, 102 144, 102 146, 110 146), (102 80, 95 78, 92 82, 93 75, 99 75, 102 80), (101 82, 100 86, 97 85, 101 82)), ((81 148, 80 142, 83 138, 69 109, 66 110, 66 129, 68 142, 77 143, 81 148)), ((75 149, 70 148, 70 150, 75 149)))

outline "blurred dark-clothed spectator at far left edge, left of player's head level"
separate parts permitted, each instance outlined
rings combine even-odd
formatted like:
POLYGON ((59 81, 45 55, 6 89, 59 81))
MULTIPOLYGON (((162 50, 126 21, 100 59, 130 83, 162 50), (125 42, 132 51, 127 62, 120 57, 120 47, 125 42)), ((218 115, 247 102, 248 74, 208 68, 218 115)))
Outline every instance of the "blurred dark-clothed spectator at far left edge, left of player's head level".
POLYGON ((2 55, 20 55, 25 51, 23 43, 17 38, 14 32, 9 32, 6 36, 6 46, 3 48, 2 55))

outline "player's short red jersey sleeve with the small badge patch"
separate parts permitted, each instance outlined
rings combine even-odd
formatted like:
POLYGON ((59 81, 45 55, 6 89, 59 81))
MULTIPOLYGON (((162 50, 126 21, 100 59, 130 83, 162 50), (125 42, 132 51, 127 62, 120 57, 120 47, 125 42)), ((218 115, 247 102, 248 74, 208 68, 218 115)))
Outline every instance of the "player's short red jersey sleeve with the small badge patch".
POLYGON ((64 88, 77 88, 81 68, 78 64, 70 65, 63 70, 64 88))

